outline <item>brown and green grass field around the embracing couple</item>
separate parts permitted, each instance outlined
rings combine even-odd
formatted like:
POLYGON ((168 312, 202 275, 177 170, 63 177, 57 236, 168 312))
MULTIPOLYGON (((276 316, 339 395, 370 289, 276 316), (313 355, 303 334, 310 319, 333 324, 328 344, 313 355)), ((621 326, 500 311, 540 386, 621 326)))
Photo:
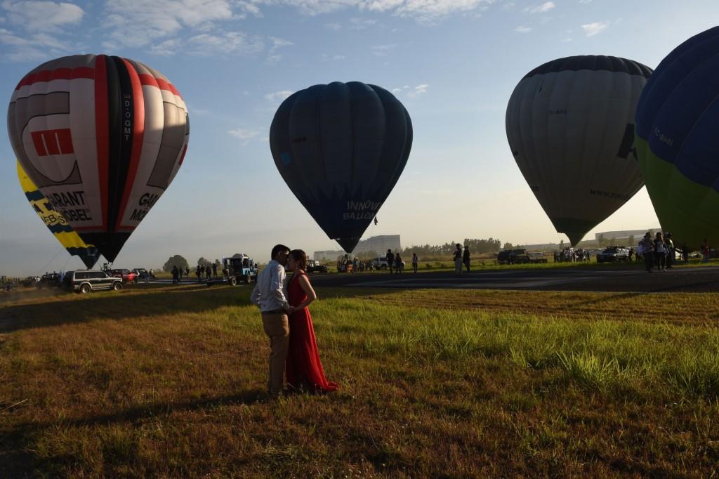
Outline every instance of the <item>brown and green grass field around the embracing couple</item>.
POLYGON ((0 477, 711 477, 716 294, 322 288, 267 401, 249 288, 0 296, 0 477))

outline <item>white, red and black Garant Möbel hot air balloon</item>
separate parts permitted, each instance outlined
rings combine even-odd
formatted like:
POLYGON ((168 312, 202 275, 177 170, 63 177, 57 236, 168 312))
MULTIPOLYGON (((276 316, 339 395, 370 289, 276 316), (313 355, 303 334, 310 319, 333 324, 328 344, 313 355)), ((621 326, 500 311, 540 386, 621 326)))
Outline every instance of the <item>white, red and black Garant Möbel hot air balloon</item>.
POLYGON ((28 177, 110 261, 177 174, 189 138, 173 84, 147 65, 106 55, 30 71, 12 94, 7 127, 28 177))

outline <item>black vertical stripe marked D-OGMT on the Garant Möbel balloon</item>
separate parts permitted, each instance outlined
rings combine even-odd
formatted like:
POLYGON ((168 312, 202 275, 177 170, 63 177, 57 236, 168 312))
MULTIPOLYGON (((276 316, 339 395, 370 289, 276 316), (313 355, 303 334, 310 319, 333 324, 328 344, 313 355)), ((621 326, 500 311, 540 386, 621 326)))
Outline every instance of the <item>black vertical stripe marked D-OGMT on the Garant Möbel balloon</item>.
POLYGON ((106 65, 110 130, 107 229, 113 232, 117 226, 132 155, 134 100, 130 76, 122 58, 111 57, 106 65))

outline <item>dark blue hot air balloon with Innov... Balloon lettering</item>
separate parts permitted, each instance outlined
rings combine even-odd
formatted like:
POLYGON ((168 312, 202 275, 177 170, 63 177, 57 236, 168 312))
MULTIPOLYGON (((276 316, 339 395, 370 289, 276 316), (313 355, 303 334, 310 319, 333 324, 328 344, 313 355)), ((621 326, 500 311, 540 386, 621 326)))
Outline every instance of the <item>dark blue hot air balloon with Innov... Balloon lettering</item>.
POLYGON ((270 127, 280 175, 347 252, 397 183, 411 147, 412 122, 400 101, 358 81, 294 93, 270 127))

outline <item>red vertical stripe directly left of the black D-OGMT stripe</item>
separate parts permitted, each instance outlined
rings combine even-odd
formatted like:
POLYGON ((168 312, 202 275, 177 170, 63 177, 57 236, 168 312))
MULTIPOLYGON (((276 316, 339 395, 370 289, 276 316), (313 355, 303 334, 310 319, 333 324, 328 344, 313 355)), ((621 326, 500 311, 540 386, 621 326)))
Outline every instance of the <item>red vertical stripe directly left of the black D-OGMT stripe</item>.
POLYGON ((95 132, 97 137, 97 166, 102 204, 102 229, 107 230, 107 191, 110 148, 108 119, 107 67, 105 55, 95 58, 95 132))

